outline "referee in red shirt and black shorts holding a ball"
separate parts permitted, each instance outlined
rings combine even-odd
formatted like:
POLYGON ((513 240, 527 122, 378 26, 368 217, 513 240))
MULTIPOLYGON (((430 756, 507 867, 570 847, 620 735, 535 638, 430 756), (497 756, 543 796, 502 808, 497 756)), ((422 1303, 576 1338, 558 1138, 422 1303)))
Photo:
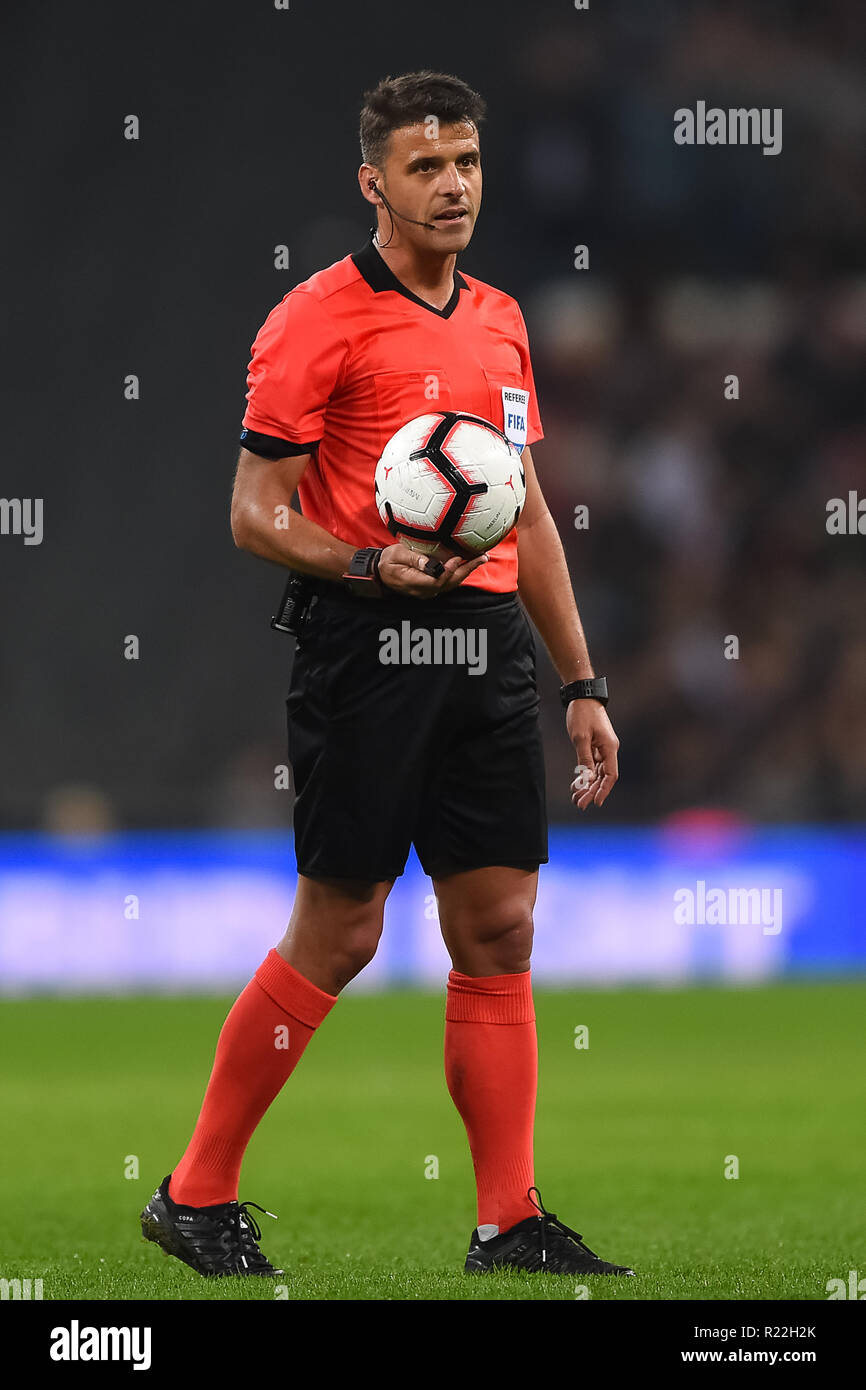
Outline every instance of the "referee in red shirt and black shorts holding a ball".
POLYGON ((619 744, 532 466, 542 428, 523 314, 456 268, 481 207, 484 113, 448 74, 409 72, 366 93, 359 185, 375 229, 296 285, 253 345, 232 535, 297 575, 286 701, 297 895, 222 1026, 186 1152, 142 1212, 145 1237, 206 1276, 282 1273, 259 1248, 256 1204, 238 1202, 243 1154, 373 959, 411 844, 453 965, 445 1076, 478 1202, 466 1270, 632 1273, 546 1211, 532 1166, 530 952, 548 827, 524 609, 563 681, 581 810, 607 798, 619 744), (439 409, 491 420, 521 450, 525 506, 488 556, 442 563, 393 545, 375 506, 386 441, 439 409), (382 632, 406 624, 420 649, 427 635, 441 651, 432 639, 448 632, 484 662, 385 662, 382 632))

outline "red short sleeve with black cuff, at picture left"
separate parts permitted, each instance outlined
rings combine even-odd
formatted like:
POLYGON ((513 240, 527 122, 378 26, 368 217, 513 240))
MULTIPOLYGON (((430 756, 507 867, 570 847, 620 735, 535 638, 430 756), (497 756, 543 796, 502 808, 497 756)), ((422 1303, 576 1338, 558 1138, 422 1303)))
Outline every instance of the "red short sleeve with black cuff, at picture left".
POLYGON ((259 329, 246 377, 240 442, 279 457, 313 448, 324 431, 348 343, 314 295, 291 291, 259 329), (274 445, 270 445, 274 441, 274 445))

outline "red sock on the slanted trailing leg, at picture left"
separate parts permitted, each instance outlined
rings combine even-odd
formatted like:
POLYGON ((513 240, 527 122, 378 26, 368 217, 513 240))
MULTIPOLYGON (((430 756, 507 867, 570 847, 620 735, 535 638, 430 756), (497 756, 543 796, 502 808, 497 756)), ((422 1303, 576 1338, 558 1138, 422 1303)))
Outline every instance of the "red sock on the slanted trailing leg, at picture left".
POLYGON ((222 1024, 199 1120, 168 1184, 174 1202, 211 1207, 238 1200, 253 1130, 335 1004, 335 994, 268 951, 222 1024))

